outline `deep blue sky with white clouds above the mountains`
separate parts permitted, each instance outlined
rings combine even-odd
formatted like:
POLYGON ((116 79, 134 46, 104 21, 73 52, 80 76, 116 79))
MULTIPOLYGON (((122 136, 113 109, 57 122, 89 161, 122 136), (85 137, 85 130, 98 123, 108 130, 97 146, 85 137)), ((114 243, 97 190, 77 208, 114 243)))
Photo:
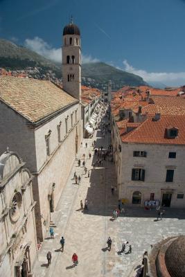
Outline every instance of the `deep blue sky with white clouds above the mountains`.
POLYGON ((83 62, 106 62, 146 82, 185 84, 185 0, 0 0, 0 37, 61 61, 71 15, 83 62))

